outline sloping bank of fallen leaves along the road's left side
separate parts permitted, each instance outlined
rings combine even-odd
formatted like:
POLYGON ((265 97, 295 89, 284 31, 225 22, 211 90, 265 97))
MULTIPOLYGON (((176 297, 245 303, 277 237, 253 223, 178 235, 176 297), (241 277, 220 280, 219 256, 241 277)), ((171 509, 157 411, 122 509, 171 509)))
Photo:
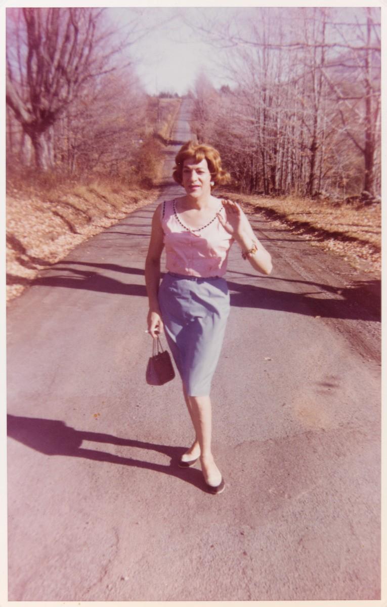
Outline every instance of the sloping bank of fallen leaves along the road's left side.
POLYGON ((58 192, 7 196, 7 300, 22 293, 39 270, 135 209, 156 200, 160 189, 104 181, 62 185, 58 192))

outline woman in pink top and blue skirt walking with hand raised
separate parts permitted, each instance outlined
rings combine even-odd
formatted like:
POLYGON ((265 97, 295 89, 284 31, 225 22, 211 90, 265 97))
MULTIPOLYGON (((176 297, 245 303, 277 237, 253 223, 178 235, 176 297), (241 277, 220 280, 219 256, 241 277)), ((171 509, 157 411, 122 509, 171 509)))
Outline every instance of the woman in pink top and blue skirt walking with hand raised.
POLYGON ((223 275, 234 241, 263 274, 271 273, 271 256, 240 206, 212 195, 211 188, 229 181, 217 150, 188 141, 175 161, 173 178, 186 194, 162 203, 153 215, 145 268, 148 330, 153 339, 166 331, 195 430, 179 466, 193 466, 200 458, 207 490, 221 493, 224 480, 211 450, 210 383, 229 314, 223 275), (168 272, 159 287, 164 246, 168 272))

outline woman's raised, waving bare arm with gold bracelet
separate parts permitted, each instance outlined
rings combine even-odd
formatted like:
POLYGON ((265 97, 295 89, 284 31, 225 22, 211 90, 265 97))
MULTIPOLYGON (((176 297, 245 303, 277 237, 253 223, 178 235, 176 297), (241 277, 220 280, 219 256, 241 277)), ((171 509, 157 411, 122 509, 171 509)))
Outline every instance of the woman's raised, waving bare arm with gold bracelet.
POLYGON ((223 227, 238 242, 242 253, 247 254, 246 259, 249 260, 254 270, 270 274, 273 268, 271 254, 255 236, 250 222, 240 206, 231 200, 223 200, 223 206, 226 209, 226 222, 222 221, 221 215, 218 215, 223 227))

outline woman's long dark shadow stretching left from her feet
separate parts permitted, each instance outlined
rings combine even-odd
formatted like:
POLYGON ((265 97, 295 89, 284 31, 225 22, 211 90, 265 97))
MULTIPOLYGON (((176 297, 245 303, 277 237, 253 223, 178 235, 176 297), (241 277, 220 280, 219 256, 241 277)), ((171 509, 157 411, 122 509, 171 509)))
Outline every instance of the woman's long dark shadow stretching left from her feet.
POLYGON ((45 453, 45 455, 67 455, 93 459, 95 461, 106 461, 111 464, 121 464, 121 466, 136 466, 137 468, 155 470, 155 472, 163 472, 164 474, 176 476, 180 480, 206 491, 203 475, 200 470, 193 468, 180 469, 178 467, 178 459, 186 450, 184 447, 143 443, 142 441, 118 438, 117 436, 99 432, 83 432, 82 430, 75 430, 72 427, 66 426, 65 422, 56 419, 27 418, 16 415, 7 415, 7 435, 31 449, 45 453), (170 457, 170 463, 168 466, 163 466, 163 464, 153 464, 141 461, 140 459, 125 458, 104 451, 83 449, 82 441, 95 441, 96 443, 110 443, 123 447, 151 449, 170 457))

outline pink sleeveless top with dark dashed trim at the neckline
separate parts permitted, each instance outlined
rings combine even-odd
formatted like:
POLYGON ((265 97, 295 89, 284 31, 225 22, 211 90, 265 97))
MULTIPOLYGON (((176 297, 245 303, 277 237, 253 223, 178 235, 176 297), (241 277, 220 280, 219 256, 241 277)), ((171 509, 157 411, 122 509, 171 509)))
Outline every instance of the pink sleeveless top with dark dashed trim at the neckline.
MULTIPOLYGON (((222 217, 226 211, 219 201, 222 217)), ((234 242, 221 225, 218 217, 198 230, 190 230, 178 217, 175 201, 163 203, 161 225, 164 231, 166 268, 176 274, 203 278, 223 276, 227 270, 227 257, 234 242)))

